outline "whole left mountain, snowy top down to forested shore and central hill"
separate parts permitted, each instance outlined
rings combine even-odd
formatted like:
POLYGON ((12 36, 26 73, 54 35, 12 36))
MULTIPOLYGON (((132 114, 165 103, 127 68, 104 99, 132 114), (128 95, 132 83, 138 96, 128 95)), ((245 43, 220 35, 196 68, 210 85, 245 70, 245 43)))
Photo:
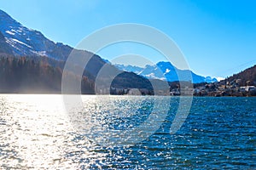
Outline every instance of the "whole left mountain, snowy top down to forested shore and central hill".
MULTIPOLYGON (((83 79, 86 81, 82 82, 82 91, 84 88, 90 87, 91 94, 91 84, 95 83, 96 77, 98 77, 98 73, 101 71, 103 66, 105 68, 108 67, 108 74, 106 74, 105 77, 101 77, 102 80, 100 80, 103 88, 104 83, 108 82, 108 80, 112 78, 113 83, 111 84, 111 88, 152 89, 150 82, 145 77, 135 75, 131 72, 124 72, 121 74, 122 71, 119 71, 116 67, 110 65, 108 60, 102 59, 100 56, 92 54, 86 50, 75 49, 68 45, 64 45, 61 42, 53 42, 47 37, 44 37, 40 31, 35 31, 26 28, 26 26, 22 26, 18 21, 10 17, 9 14, 0 10, 0 59, 3 66, 3 69, 0 70, 0 80, 2 81, 0 84, 0 92, 19 93, 19 91, 17 92, 17 89, 20 88, 13 86, 13 84, 26 84, 26 86, 22 86, 22 92, 29 91, 29 88, 37 86, 37 84, 41 84, 42 87, 44 87, 44 92, 59 92, 61 90, 60 82, 56 82, 57 84, 48 82, 55 82, 54 80, 51 80, 51 78, 55 77, 55 71, 61 72, 62 74, 67 57, 71 52, 73 52, 76 57, 83 56, 89 59, 89 57, 92 56, 84 69, 83 79), (26 63, 30 63, 30 65, 26 65, 26 63), (29 66, 32 68, 29 69, 29 66), (5 69, 5 67, 8 69, 5 69), (26 72, 37 72, 36 68, 42 71, 45 70, 44 77, 41 79, 37 78, 41 77, 39 74, 26 72), (17 78, 19 77, 19 71, 21 70, 24 74, 21 75, 21 78, 17 78), (26 75, 31 75, 31 79, 35 80, 35 82, 32 83, 29 81, 26 75), (113 77, 113 75, 118 76, 113 77), (22 77, 24 77, 24 79, 22 79, 22 77), (88 84, 89 82, 90 84, 88 84), (1 90, 1 88, 3 88, 3 83, 6 90, 1 90)), ((60 74, 57 75, 58 78, 60 78, 60 74)), ((76 76, 74 75, 73 77, 76 76)), ((77 79, 79 78, 74 78, 74 81, 77 79)), ((105 88, 109 87, 107 86, 105 88)), ((35 88, 33 92, 37 90, 38 88, 35 88)), ((70 93, 72 93, 72 91, 70 93)), ((84 90, 84 93, 87 93, 86 90, 84 90)))

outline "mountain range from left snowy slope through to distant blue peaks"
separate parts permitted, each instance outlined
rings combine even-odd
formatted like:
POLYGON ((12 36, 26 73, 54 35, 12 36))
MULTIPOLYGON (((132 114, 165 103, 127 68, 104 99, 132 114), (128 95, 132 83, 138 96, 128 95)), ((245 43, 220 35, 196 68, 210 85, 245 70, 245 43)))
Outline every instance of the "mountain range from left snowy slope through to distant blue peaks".
MULTIPOLYGON (((217 82, 216 78, 202 77, 193 71, 180 70, 172 65, 172 63, 165 61, 161 61, 156 65, 145 65, 144 67, 113 65, 107 59, 102 59, 100 56, 89 51, 75 49, 61 42, 53 42, 44 37, 40 31, 22 26, 18 21, 10 17, 9 14, 0 10, 0 65, 2 65, 0 69, 0 93, 12 91, 19 93, 17 89, 21 89, 18 87, 21 84, 26 84, 30 88, 38 86, 38 88, 34 88, 34 91, 37 91, 39 87, 44 87, 45 91, 49 89, 49 92, 61 92, 61 74, 67 57, 71 52, 78 54, 78 57, 79 55, 85 57, 93 56, 88 65, 86 65, 83 75, 84 82, 82 82, 82 86, 90 87, 89 90, 84 90, 84 93, 87 94, 96 93, 95 89, 93 89, 96 77, 98 77, 98 72, 102 67, 106 65, 109 72, 104 73, 104 77, 100 80, 102 82, 101 88, 109 88, 104 87, 104 82, 108 82, 110 78, 113 78, 110 72, 113 75, 119 75, 114 78, 111 88, 119 89, 143 88, 150 91, 152 90, 152 85, 148 79, 154 79, 160 83, 165 80, 168 82, 185 81, 193 83, 217 82), (44 75, 42 76, 37 69, 44 71, 44 75), (35 74, 26 73, 26 71, 32 71, 35 74), (20 74, 21 72, 23 74, 20 74), (188 75, 191 75, 192 78, 189 78, 188 75), (48 83, 50 78, 54 77, 57 77, 58 81, 48 83), (12 78, 14 80, 11 80, 12 78), (27 83, 24 82, 25 80, 27 83), (46 80, 48 82, 45 82, 46 80), (13 83, 13 85, 9 83, 13 83), (4 90, 1 89, 3 86, 5 87, 4 90)), ((22 89, 23 91, 29 90, 24 89, 24 87, 22 89)))

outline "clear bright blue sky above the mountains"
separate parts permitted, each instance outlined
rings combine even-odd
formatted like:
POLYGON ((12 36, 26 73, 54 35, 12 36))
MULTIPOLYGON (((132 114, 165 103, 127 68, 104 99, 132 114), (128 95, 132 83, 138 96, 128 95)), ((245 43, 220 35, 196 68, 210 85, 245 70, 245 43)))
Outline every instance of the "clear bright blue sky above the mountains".
MULTIPOLYGON (((254 0, 8 0, 1 1, 0 8, 24 26, 73 47, 104 26, 153 26, 172 37, 190 69, 203 76, 227 77, 256 64, 254 0)), ((131 48, 125 52, 136 53, 131 48)), ((108 48, 100 54, 112 59, 122 53, 114 51, 108 48)), ((148 58, 158 61, 154 54, 148 58)))

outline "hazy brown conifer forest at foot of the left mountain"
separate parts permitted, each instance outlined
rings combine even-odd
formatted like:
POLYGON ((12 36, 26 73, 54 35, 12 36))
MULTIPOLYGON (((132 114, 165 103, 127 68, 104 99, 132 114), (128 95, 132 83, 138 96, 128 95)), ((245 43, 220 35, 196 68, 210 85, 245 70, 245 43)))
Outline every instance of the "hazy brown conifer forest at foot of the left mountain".
MULTIPOLYGON (((0 93, 60 94, 61 77, 62 68, 49 65, 46 59, 0 58, 0 93)), ((93 80, 82 78, 82 94, 94 94, 93 80)))

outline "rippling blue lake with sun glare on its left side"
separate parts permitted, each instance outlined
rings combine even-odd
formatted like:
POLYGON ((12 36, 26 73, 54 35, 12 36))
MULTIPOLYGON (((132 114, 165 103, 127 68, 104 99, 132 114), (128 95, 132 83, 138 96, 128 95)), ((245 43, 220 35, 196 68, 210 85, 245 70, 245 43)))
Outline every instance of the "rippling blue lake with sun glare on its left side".
POLYGON ((84 95, 82 101, 71 114, 61 95, 1 94, 0 168, 256 168, 256 98, 195 97, 175 133, 178 97, 84 95), (149 122, 154 112, 160 115, 149 122), (130 136, 134 143, 125 145, 130 133, 117 133, 121 145, 104 140, 117 141, 109 132, 143 122, 148 127, 137 132, 144 139, 130 136))

